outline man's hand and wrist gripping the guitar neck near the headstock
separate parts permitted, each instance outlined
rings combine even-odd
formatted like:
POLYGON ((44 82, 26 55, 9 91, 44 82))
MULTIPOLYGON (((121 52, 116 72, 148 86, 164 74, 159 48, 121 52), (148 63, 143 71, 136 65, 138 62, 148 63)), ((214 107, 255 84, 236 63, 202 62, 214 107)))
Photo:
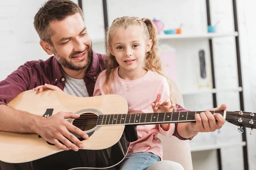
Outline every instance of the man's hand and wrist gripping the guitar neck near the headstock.
POLYGON ((179 123, 177 131, 180 136, 189 139, 195 136, 198 132, 213 132, 216 129, 220 129, 225 123, 224 117, 219 113, 212 114, 209 111, 224 111, 226 109, 227 105, 222 104, 218 108, 207 109, 200 114, 197 113, 195 114, 196 122, 179 123))

